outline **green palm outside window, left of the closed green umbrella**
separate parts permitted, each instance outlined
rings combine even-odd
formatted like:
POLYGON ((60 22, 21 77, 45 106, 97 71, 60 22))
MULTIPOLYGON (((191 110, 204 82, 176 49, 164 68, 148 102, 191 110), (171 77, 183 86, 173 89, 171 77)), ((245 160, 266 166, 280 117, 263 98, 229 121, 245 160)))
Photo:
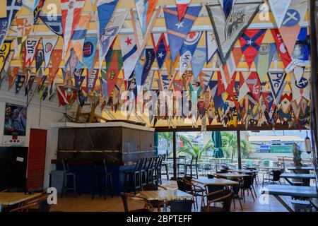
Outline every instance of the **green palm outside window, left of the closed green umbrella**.
POLYGON ((208 149, 210 149, 210 148, 213 149, 214 148, 214 145, 213 145, 211 140, 209 140, 208 143, 206 143, 203 148, 200 148, 199 145, 195 145, 186 136, 178 135, 178 138, 183 143, 182 147, 179 148, 178 153, 183 152, 183 153, 187 153, 187 154, 192 155, 192 156, 198 156, 198 160, 200 160, 201 155, 203 153, 206 153, 206 151, 208 149))

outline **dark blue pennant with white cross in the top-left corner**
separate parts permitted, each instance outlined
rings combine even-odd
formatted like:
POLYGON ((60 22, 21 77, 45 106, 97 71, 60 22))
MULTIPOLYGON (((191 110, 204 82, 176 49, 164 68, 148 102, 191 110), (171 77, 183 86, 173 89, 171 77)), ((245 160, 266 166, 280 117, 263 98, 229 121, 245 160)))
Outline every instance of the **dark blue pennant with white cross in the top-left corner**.
POLYGON ((4 44, 4 39, 8 34, 12 20, 16 17, 16 13, 20 11, 22 0, 6 0, 6 17, 0 18, 0 49, 4 44))

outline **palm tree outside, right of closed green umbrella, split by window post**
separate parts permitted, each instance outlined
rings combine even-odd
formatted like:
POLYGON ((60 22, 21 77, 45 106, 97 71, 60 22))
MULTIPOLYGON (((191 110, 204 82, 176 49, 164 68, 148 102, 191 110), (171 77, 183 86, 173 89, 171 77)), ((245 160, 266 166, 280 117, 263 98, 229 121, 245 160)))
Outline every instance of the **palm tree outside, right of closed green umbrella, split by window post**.
MULTIPOLYGON (((235 133, 222 133, 222 150, 225 153, 225 157, 230 157, 233 161, 237 151, 237 136, 235 133)), ((254 152, 254 150, 252 150, 251 145, 247 141, 241 140, 242 157, 248 157, 249 153, 252 152, 254 152)))

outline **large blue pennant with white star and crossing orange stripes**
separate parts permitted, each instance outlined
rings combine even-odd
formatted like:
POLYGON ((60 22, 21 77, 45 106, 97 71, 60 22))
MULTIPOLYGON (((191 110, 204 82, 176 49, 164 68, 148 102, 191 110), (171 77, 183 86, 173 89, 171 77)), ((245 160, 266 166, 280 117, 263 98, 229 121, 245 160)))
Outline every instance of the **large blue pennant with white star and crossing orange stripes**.
POLYGON ((202 6, 189 6, 182 20, 178 19, 177 8, 163 8, 172 61, 177 59, 179 50, 182 47, 184 40, 187 38, 194 21, 199 16, 201 8, 202 6))

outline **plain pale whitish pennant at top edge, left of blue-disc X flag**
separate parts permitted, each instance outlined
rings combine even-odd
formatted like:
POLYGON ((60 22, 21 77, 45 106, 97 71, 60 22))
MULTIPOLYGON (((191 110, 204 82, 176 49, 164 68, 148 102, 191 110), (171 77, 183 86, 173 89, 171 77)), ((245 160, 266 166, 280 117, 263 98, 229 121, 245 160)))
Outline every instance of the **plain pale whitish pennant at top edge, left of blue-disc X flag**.
POLYGON ((269 0, 269 6, 271 6, 271 12, 273 13, 278 28, 281 28, 290 2, 291 0, 269 0))

